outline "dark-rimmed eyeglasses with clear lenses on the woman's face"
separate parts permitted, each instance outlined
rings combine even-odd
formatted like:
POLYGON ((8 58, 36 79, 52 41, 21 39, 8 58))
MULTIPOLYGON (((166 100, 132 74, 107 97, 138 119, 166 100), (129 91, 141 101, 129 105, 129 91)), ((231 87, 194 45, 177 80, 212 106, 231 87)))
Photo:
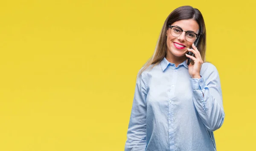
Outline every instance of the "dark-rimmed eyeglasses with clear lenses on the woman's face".
POLYGON ((171 26, 169 25, 169 27, 171 28, 171 35, 173 37, 179 37, 182 32, 185 32, 185 38, 186 38, 186 41, 189 41, 189 42, 194 42, 196 38, 198 38, 198 34, 196 34, 195 32, 189 32, 189 31, 185 31, 185 30, 182 30, 180 27, 177 27, 177 26, 171 26))

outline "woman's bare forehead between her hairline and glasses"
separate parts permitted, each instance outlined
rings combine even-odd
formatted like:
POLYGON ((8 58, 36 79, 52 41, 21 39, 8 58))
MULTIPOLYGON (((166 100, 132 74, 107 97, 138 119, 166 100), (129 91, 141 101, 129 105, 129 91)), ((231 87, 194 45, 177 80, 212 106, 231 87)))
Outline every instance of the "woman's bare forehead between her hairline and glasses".
POLYGON ((195 20, 188 19, 188 20, 179 20, 172 23, 171 26, 179 26, 183 30, 187 31, 193 31, 195 33, 199 32, 199 25, 195 20))

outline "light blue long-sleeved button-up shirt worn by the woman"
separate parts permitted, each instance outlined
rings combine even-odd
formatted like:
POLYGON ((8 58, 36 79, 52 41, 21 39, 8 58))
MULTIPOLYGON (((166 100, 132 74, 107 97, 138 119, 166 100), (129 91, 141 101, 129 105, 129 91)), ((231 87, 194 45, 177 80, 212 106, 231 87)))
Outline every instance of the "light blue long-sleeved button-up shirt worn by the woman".
POLYGON ((151 67, 137 76, 125 151, 215 151, 225 117, 216 67, 204 63, 201 78, 186 60, 151 67))

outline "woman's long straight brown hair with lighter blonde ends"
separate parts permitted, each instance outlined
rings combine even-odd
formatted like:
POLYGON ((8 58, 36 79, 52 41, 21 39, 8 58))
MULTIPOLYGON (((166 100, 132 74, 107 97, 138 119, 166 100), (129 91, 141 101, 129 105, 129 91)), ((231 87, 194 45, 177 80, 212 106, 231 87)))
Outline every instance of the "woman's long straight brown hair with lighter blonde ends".
MULTIPOLYGON (((167 52, 167 45, 166 45, 166 32, 168 30, 168 25, 172 25, 172 23, 179 21, 179 20, 187 20, 187 19, 193 19, 195 20, 199 25, 199 34, 200 39, 198 43, 198 51, 201 54, 202 60, 205 62, 205 52, 206 52, 206 28, 204 24, 204 18, 201 12, 198 9, 193 8, 192 6, 181 6, 177 9, 173 10, 169 16, 166 18, 163 27, 160 32, 160 36, 157 40, 157 45, 155 47, 154 54, 151 56, 151 58, 144 64, 142 70, 140 70, 141 74, 145 69, 147 69, 151 64, 153 66, 156 66, 157 64, 162 61, 162 59, 166 56, 167 52)), ((192 61, 192 64, 194 62, 192 61)))

